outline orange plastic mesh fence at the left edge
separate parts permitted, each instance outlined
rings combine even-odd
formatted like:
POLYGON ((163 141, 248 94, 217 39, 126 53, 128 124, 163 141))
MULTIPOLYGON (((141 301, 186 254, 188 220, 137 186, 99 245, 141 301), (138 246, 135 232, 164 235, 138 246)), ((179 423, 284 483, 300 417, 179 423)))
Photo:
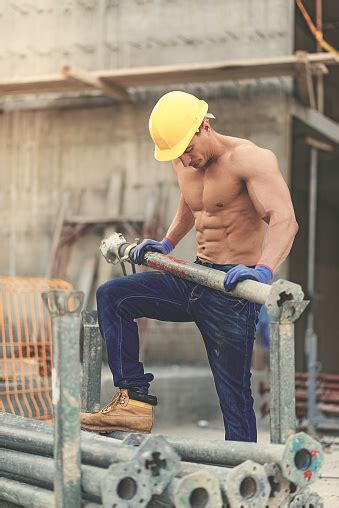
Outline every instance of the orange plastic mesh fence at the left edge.
POLYGON ((41 298, 58 279, 0 277, 0 410, 52 418, 52 322, 41 298))

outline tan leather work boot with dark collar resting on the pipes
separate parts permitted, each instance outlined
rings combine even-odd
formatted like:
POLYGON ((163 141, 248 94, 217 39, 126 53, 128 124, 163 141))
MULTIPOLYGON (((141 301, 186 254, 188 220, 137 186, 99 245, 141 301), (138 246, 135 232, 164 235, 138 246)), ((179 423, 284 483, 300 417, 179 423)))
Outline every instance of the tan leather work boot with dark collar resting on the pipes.
POLYGON ((98 413, 80 413, 80 425, 84 430, 98 433, 115 430, 149 433, 153 426, 153 406, 156 404, 157 398, 153 395, 123 388, 98 413))

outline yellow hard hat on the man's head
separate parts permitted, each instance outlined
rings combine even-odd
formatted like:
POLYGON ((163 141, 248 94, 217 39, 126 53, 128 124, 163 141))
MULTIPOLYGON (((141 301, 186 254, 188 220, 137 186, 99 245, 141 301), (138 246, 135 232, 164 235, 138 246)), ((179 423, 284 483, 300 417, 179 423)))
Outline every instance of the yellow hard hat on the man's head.
MULTIPOLYGON (((205 118, 208 104, 186 92, 169 92, 153 108, 149 130, 158 161, 177 159, 184 153, 205 118)), ((211 115, 212 116, 212 115, 211 115)))

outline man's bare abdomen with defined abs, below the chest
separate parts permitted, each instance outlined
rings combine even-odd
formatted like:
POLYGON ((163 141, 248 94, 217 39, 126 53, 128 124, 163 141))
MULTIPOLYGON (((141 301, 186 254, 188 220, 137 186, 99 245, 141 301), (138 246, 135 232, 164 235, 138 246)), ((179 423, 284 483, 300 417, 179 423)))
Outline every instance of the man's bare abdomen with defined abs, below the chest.
POLYGON ((255 265, 261 256, 265 225, 253 211, 193 212, 198 257, 217 264, 255 265))

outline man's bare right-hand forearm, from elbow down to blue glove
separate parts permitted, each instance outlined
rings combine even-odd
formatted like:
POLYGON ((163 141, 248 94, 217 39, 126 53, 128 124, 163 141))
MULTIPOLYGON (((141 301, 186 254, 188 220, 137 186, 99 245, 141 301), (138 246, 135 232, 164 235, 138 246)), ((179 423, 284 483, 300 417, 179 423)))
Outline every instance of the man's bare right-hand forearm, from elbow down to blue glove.
POLYGON ((257 264, 269 266, 275 272, 287 258, 297 232, 298 224, 294 217, 280 221, 272 218, 266 232, 263 252, 257 264))

